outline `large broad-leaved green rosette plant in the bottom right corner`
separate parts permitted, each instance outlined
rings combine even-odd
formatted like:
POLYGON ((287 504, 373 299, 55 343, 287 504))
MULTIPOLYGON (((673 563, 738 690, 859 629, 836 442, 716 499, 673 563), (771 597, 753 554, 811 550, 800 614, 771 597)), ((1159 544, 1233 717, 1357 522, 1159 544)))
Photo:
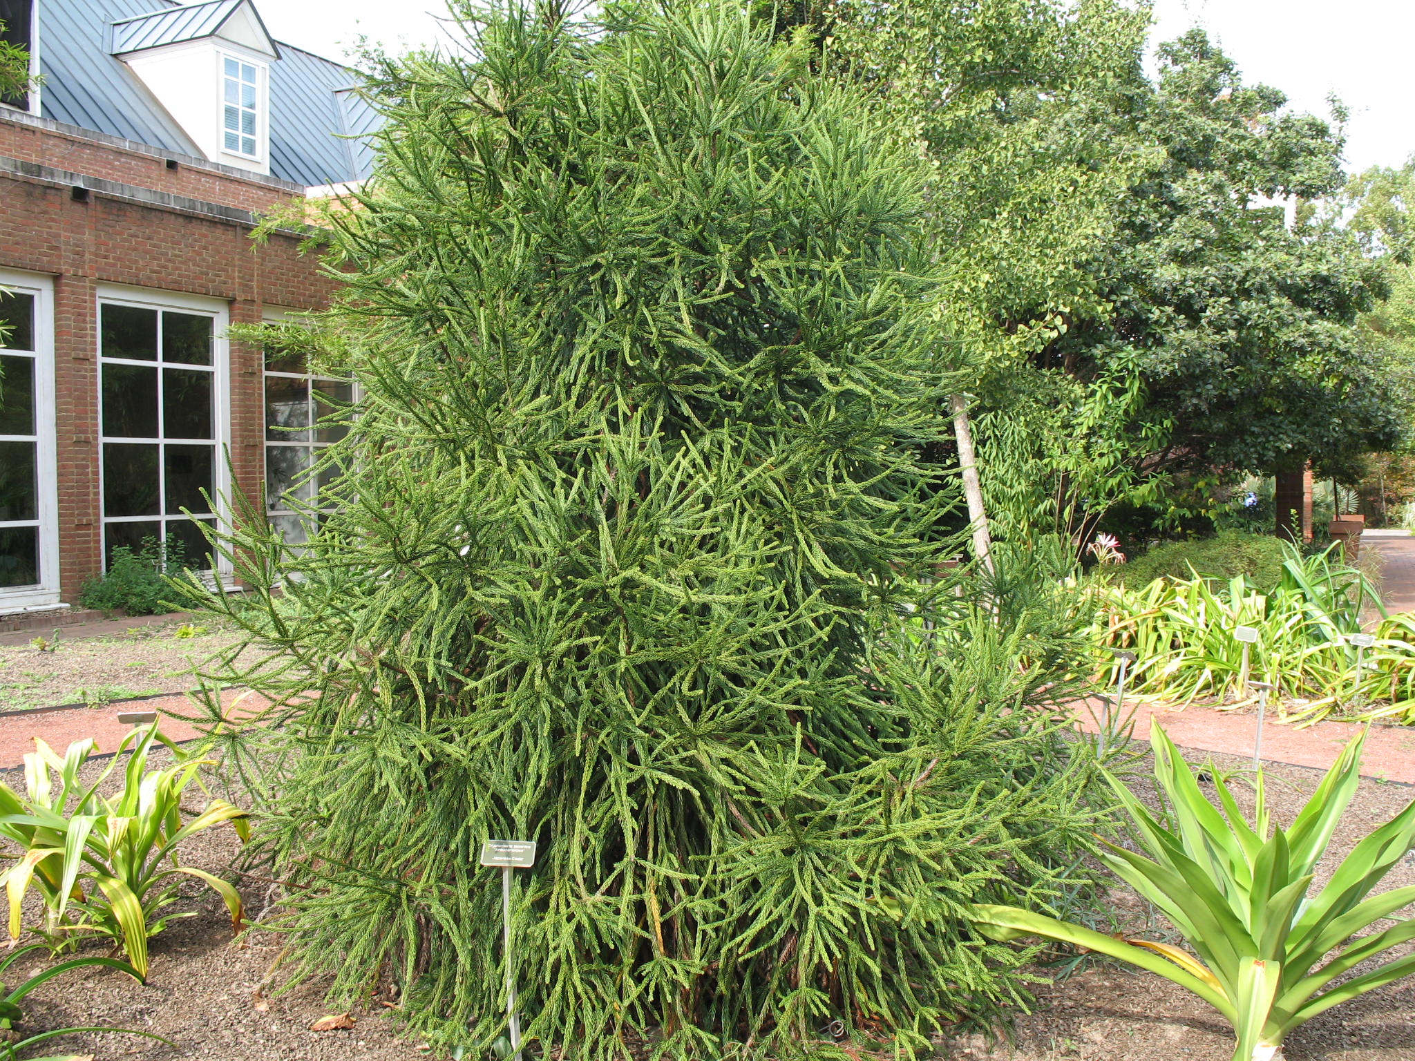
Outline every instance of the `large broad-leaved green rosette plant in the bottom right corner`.
POLYGON ((1353 968, 1415 939, 1415 918, 1357 935, 1415 903, 1415 886, 1371 890, 1415 845, 1415 802, 1371 832, 1310 895, 1312 880, 1356 792, 1365 736, 1351 740, 1292 826, 1272 826, 1257 777, 1249 822, 1215 774, 1218 805, 1157 724, 1155 774, 1167 813, 1156 818, 1118 779, 1143 854, 1105 843, 1101 857, 1179 929, 1193 952, 1149 939, 1118 939, 1016 907, 975 905, 993 939, 1041 937, 1084 946, 1159 973, 1217 1009, 1234 1027, 1234 1061, 1276 1061, 1282 1043, 1312 1017, 1415 972, 1415 955, 1348 980, 1353 968), (1148 856, 1148 857, 1146 857, 1148 856))

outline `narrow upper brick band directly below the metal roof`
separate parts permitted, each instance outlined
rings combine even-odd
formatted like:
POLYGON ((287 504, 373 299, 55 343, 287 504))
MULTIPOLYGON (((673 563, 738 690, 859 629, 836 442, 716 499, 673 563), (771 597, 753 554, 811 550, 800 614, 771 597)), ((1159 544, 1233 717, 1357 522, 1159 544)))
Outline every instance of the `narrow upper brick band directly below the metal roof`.
POLYGON ((277 202, 300 198, 287 188, 216 170, 183 163, 175 170, 168 170, 166 158, 146 151, 132 151, 4 117, 0 117, 0 156, 249 211, 263 211, 277 202))

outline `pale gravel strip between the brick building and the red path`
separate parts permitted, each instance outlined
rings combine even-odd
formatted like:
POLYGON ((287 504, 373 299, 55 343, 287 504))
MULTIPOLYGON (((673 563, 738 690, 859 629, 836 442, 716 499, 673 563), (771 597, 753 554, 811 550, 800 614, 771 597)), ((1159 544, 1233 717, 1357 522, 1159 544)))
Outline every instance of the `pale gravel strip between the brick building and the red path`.
POLYGON ((215 621, 161 622, 125 634, 67 638, 61 630, 52 651, 35 645, 0 645, 0 712, 187 692, 195 663, 236 639, 215 621))

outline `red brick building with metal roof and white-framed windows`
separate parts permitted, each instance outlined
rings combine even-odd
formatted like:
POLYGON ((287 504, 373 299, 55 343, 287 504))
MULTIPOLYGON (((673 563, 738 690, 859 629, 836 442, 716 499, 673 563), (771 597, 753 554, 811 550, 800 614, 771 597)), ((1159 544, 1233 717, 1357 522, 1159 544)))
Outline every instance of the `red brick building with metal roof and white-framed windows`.
POLYGON ((174 535, 204 556, 181 514, 225 516, 204 489, 263 489, 300 533, 287 498, 327 441, 301 429, 347 388, 225 332, 328 300, 293 236, 249 233, 259 211, 362 180, 375 117, 347 68, 273 41, 252 0, 0 0, 0 20, 41 75, 0 106, 13 617, 75 603, 120 545, 174 535))

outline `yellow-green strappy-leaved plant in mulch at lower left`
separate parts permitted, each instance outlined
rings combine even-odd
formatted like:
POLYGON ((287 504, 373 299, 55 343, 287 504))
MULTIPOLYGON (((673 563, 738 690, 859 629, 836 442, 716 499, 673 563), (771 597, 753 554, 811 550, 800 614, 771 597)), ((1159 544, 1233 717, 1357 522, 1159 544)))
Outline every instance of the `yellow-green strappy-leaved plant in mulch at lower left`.
MULTIPOLYGON (((221 877, 177 860, 177 849, 192 833, 232 822, 246 837, 246 815, 224 799, 183 819, 183 791, 209 763, 188 755, 154 726, 134 730, 117 747, 133 744, 122 791, 113 798, 98 794, 119 763, 115 755, 92 784, 79 771, 98 746, 92 740, 69 744, 64 758, 42 740, 24 757, 25 794, 0 784, 0 837, 21 850, 3 874, 10 900, 10 938, 18 939, 21 903, 33 884, 44 898, 45 918, 38 931, 51 941, 78 932, 112 937, 126 951, 139 976, 147 976, 147 938, 163 929, 170 915, 161 911, 177 898, 177 881, 194 877, 211 887, 239 928, 239 893, 221 877), (175 763, 147 772, 153 741, 173 750, 175 763), (52 774, 51 774, 52 771, 52 774), (89 884, 85 890, 83 884, 89 884)), ((62 945, 62 944, 59 944, 62 945)))

